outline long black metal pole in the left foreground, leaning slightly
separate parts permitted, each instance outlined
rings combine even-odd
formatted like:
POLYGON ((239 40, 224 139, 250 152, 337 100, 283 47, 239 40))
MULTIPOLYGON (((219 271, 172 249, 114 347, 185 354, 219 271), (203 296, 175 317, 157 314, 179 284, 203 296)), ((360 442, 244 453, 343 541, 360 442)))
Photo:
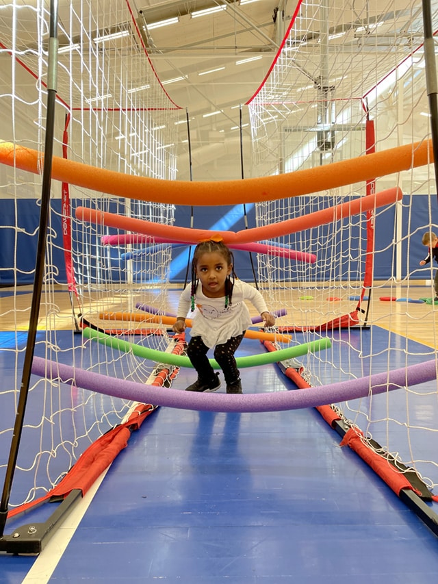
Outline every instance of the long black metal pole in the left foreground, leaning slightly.
POLYGON ((18 407, 16 412, 14 433, 6 467, 3 494, 0 503, 0 537, 3 537, 6 520, 8 519, 8 503, 14 479, 14 470, 18 457, 21 433, 23 431, 23 421, 26 410, 27 396, 29 394, 29 381, 31 376, 31 366, 34 359, 34 349, 36 340, 36 330, 38 316, 40 313, 40 300, 42 290, 42 280, 44 278, 44 257, 46 253, 47 226, 49 223, 50 211, 50 188, 51 188, 51 168, 53 156, 53 130, 55 125, 55 100, 56 100, 56 69, 57 69, 57 0, 50 2, 50 37, 49 37, 49 63, 47 71, 47 123, 44 144, 44 166, 42 171, 42 196, 40 225, 38 230, 38 243, 36 251, 35 279, 32 292, 31 312, 29 316, 29 333, 27 334, 27 344, 23 373, 21 377, 20 395, 18 397, 18 407))

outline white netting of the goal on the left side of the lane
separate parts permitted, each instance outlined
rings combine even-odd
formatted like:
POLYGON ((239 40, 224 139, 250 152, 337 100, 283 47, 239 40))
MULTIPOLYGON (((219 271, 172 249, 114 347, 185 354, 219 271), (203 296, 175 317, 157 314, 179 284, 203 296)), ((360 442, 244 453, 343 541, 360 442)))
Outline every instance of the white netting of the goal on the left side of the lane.
MULTIPOLYGON (((44 150, 47 123, 49 12, 45 5, 43 1, 34 6, 0 3, 0 140, 36 151, 44 150)), ((155 75, 129 2, 84 1, 75 6, 66 3, 59 13, 54 155, 130 175, 175 179, 172 129, 179 107, 155 75), (110 27, 110 21, 120 25, 110 27), (63 142, 68 144, 64 149, 63 142)), ((0 165, 0 198, 8 216, 1 223, 6 245, 0 283, 7 288, 0 314, 3 330, 10 330, 2 333, 8 382, 0 398, 2 419, 9 420, 9 425, 0 428, 2 478, 29 322, 31 289, 21 286, 34 280, 41 183, 38 175, 0 165)), ((99 312, 131 310, 139 301, 163 305, 170 246, 155 246, 153 253, 136 261, 125 260, 122 253, 132 248, 103 245, 102 236, 116 230, 75 220, 77 206, 164 224, 174 220, 172 205, 131 201, 129 192, 126 199, 73 186, 62 193, 61 183, 53 181, 36 355, 144 382, 155 364, 87 344, 79 333, 78 314, 94 325, 114 329, 120 323, 99 322, 99 312), (65 281, 68 286, 60 285, 65 281)), ((130 322, 121 326, 141 329, 130 322)), ((138 330, 136 341, 148 335, 149 346, 166 348, 165 331, 150 332, 138 330)), ((18 457, 17 487, 10 500, 14 506, 47 492, 83 450, 123 420, 132 407, 127 401, 91 392, 73 390, 70 395, 65 387, 35 377, 29 389, 23 440, 36 448, 22 449, 18 457)))

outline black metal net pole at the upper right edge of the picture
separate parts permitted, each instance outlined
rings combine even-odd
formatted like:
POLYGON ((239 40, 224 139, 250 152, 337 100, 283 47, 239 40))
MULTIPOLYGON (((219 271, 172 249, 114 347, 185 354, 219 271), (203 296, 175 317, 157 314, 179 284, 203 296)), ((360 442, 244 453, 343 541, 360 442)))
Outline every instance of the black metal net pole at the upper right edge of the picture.
POLYGON ((438 197, 438 82, 435 65, 435 40, 432 29, 432 10, 430 0, 423 0, 424 62, 426 90, 429 100, 430 131, 432 133, 433 164, 435 166, 435 186, 438 197))

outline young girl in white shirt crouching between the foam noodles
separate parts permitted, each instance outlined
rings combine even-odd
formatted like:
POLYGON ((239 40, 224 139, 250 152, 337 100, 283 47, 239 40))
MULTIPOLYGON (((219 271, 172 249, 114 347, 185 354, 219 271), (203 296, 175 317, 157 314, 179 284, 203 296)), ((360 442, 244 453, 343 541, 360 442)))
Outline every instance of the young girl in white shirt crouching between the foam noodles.
POLYGON ((198 373, 198 379, 186 389, 189 392, 214 392, 220 388, 219 374, 209 363, 207 351, 214 349, 227 383, 227 394, 241 394, 242 383, 234 353, 252 325, 245 300, 258 310, 265 326, 272 327, 274 315, 268 312, 260 292, 236 279, 233 253, 222 241, 208 240, 198 244, 192 260, 192 284, 179 301, 176 333, 185 330, 185 317, 192 317, 192 338, 187 354, 198 373), (195 312, 195 309, 196 312, 195 312))

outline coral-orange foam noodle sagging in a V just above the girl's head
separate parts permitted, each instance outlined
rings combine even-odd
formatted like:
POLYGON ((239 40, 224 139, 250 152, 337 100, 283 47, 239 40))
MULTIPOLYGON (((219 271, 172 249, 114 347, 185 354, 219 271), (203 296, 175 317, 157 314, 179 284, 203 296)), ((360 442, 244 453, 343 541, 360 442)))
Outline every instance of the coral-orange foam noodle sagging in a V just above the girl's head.
POLYGON ((90 223, 98 223, 107 227, 125 229, 125 231, 137 231, 146 233, 149 236, 167 237, 188 243, 198 243, 201 240, 209 239, 214 235, 220 235, 225 244, 250 243, 261 240, 270 240, 276 237, 296 233, 324 223, 331 223, 350 215, 370 211, 374 207, 381 207, 395 203, 402 199, 402 190, 398 187, 390 188, 376 194, 368 194, 354 201, 348 201, 335 207, 329 207, 321 211, 315 211, 302 217, 272 223, 263 227, 253 227, 242 231, 208 231, 207 229, 190 229, 190 227, 177 227, 176 225, 162 225, 162 223, 152 223, 143 219, 124 217, 114 213, 107 213, 77 207, 76 217, 79 220, 90 223))

